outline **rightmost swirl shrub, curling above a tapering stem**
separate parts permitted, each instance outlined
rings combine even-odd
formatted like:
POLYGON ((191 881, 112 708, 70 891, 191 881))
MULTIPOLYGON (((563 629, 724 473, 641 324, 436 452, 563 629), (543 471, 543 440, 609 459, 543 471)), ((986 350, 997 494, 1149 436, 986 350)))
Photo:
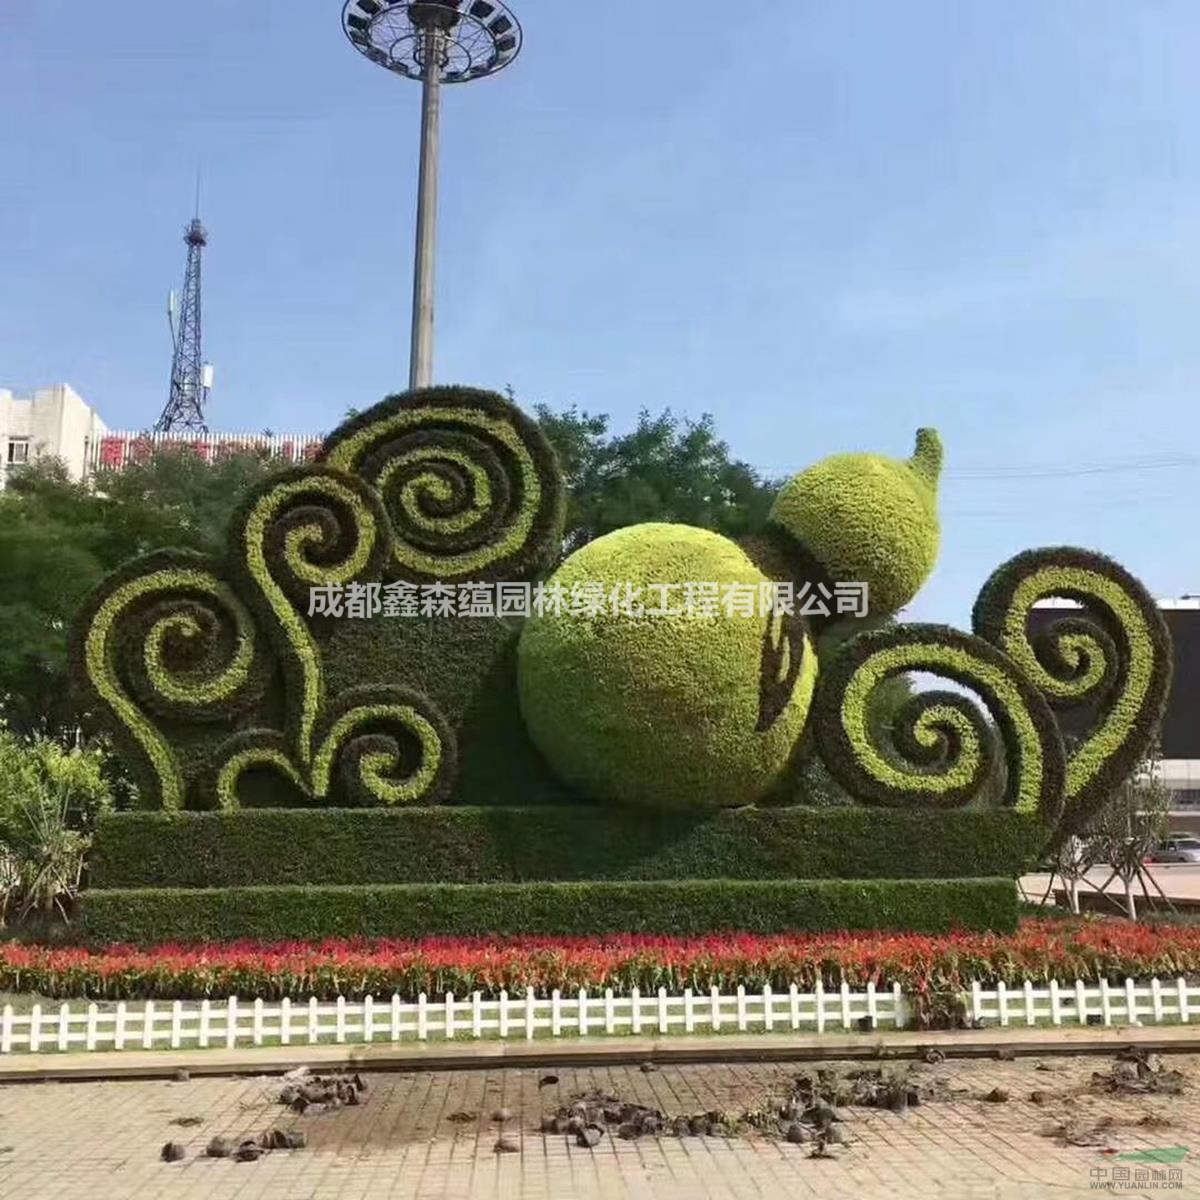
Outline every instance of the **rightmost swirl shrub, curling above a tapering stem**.
POLYGON ((979 593, 973 625, 1051 707, 1094 714, 1069 754, 1060 833, 1082 829, 1157 736, 1171 682, 1171 637, 1158 605, 1103 554, 1051 547, 1000 566, 979 593), (1031 636, 1033 606, 1054 596, 1082 607, 1031 636))

